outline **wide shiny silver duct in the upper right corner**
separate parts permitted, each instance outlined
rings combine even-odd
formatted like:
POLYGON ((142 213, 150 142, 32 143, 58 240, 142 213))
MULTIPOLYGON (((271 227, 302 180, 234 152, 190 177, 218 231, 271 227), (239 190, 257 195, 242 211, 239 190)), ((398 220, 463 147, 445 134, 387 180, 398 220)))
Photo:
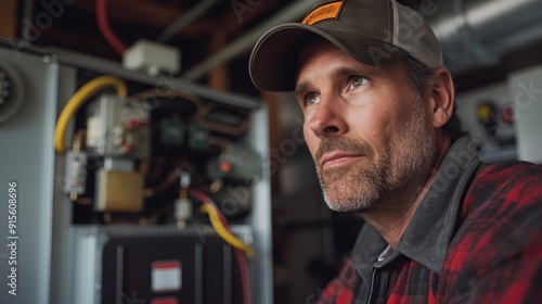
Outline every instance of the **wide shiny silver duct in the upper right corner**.
POLYGON ((426 15, 452 74, 496 64, 514 49, 542 39, 540 0, 440 0, 426 15))

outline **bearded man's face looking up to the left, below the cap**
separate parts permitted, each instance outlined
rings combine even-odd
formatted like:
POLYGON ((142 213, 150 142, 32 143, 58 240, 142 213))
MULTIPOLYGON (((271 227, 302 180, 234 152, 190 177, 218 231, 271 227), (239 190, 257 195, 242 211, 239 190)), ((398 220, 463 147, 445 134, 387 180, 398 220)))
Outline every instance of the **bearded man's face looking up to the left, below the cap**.
POLYGON ((299 56, 296 100, 332 210, 374 210, 425 182, 435 131, 402 63, 370 66, 331 43, 311 43, 299 56))

